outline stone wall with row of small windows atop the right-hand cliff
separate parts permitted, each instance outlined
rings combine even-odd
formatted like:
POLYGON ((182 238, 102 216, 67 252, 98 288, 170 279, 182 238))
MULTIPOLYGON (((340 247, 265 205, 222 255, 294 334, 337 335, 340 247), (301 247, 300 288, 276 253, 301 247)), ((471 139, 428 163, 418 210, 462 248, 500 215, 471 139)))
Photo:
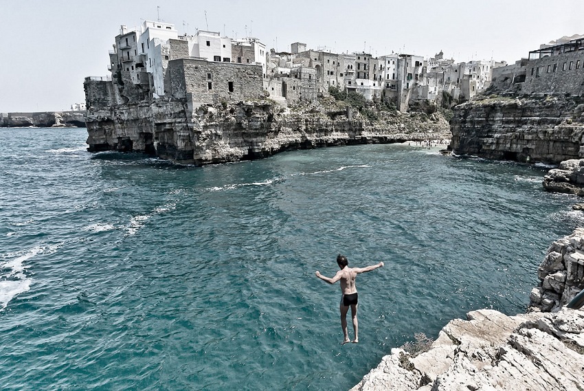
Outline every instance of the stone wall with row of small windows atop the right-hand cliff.
POLYGON ((573 52, 530 60, 522 93, 584 93, 584 53, 573 52))

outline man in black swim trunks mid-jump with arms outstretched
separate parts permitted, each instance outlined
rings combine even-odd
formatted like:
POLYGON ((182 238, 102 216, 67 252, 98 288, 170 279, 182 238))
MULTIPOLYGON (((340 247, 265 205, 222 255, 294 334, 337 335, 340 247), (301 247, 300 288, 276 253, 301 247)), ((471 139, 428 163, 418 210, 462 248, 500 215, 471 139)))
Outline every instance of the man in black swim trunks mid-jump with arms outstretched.
POLYGON ((341 281, 341 327, 343 328, 343 334, 345 336, 342 345, 350 342, 349 334, 347 331, 347 312, 349 311, 349 306, 351 307, 351 317, 353 320, 353 330, 355 330, 355 339, 353 343, 357 344, 359 342, 358 324, 357 324, 357 287, 355 286, 355 278, 357 274, 365 273, 366 271, 372 271, 378 267, 383 267, 383 262, 379 262, 377 265, 372 265, 368 267, 348 267, 349 261, 347 257, 339 254, 337 256, 337 264, 341 270, 337 271, 335 277, 328 278, 323 276, 319 271, 316 271, 316 276, 321 280, 328 282, 329 284, 334 284, 337 281, 341 281))

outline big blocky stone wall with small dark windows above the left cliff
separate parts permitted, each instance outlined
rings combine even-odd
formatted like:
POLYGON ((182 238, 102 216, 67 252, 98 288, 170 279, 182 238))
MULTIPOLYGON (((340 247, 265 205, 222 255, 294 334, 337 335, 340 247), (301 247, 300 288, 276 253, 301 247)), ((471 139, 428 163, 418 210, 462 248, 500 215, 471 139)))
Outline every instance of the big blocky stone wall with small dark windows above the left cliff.
POLYGON ((190 94, 193 107, 262 96, 261 65, 179 59, 168 63, 168 75, 172 96, 190 94))

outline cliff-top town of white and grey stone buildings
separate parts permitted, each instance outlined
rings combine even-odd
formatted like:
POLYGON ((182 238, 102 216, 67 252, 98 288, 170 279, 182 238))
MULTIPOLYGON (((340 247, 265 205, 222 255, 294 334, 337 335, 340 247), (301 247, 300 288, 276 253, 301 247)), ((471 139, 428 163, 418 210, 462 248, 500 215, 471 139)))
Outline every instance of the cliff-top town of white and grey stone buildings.
POLYGON ((265 97, 285 105, 313 101, 318 93, 326 94, 333 87, 355 91, 366 100, 383 99, 407 111, 411 101, 436 102, 444 94, 456 101, 469 100, 493 79, 506 87, 521 82, 526 92, 537 92, 548 85, 547 76, 557 79, 557 72, 579 69, 584 58, 554 60, 581 47, 582 37, 575 35, 541 45, 513 65, 494 60, 455 63, 441 51, 433 58, 397 53, 374 57, 366 52, 336 54, 292 43, 291 52, 276 52, 267 50, 258 38, 233 39, 203 30, 179 35, 171 23, 144 21, 133 29, 121 26, 109 54, 111 76, 86 80, 113 78, 118 84, 137 88, 124 89, 121 96, 113 93, 108 102, 96 102, 90 89, 87 103, 190 96, 197 107, 217 99, 259 96, 263 91, 265 97))

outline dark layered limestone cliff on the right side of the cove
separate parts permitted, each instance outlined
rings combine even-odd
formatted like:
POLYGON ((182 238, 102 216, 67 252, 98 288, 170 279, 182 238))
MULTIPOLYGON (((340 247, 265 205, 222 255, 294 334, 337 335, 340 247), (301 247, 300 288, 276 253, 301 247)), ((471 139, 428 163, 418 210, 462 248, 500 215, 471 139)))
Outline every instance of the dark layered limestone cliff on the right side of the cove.
POLYGON ((455 107, 449 148, 457 155, 559 164, 581 157, 583 98, 479 97, 455 107))

